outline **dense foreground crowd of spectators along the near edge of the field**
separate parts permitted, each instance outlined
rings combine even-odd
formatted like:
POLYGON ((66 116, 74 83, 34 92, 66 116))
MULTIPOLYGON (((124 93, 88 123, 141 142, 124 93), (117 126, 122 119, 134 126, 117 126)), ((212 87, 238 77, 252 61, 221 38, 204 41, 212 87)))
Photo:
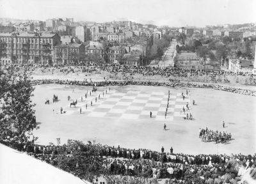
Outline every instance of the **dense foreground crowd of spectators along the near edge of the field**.
POLYGON ((235 184, 241 180, 239 168, 256 179, 256 155, 186 155, 172 153, 172 149, 170 152, 163 148, 161 152, 134 150, 72 140, 62 146, 42 146, 22 144, 17 142, 17 137, 4 139, 1 143, 90 181, 103 174, 112 183, 131 176, 129 180, 147 180, 146 183, 170 178, 170 183, 235 184), (116 178, 116 175, 119 176, 116 178))

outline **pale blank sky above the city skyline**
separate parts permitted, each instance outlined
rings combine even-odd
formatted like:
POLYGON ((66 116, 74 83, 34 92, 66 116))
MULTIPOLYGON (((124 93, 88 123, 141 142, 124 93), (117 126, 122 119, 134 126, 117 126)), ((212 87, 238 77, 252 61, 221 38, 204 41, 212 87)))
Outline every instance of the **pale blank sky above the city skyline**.
POLYGON ((0 17, 204 27, 256 23, 255 8, 256 0, 0 0, 0 17))

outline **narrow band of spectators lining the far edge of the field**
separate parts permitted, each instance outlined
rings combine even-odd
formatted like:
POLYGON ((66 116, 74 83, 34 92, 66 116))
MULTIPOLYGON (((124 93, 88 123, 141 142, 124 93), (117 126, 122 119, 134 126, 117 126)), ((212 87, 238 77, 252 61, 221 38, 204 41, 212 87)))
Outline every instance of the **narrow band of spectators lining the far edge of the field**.
POLYGON ((127 85, 141 85, 141 86, 166 86, 166 87, 178 87, 178 88, 211 88, 220 91, 228 91, 232 93, 239 93, 243 95, 256 96, 256 91, 250 89, 224 87, 214 84, 197 84, 197 83, 183 83, 183 82, 151 82, 151 81, 68 81, 59 79, 45 79, 32 81, 33 84, 67 84, 67 85, 78 85, 78 86, 127 86, 127 85))

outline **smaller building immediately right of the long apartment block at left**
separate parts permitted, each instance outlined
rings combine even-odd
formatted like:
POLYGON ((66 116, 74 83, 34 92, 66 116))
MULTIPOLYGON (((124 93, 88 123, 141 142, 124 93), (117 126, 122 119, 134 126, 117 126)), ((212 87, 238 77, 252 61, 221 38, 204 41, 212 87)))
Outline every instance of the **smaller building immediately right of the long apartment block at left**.
POLYGON ((83 62, 85 47, 83 43, 56 45, 53 49, 54 65, 74 65, 83 62))

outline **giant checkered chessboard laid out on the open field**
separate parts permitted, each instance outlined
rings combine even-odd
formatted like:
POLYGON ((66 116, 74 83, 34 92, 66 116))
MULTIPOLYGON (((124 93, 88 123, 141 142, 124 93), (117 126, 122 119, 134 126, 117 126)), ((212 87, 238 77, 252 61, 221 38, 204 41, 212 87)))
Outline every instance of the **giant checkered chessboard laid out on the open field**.
MULTIPOLYGON (((186 95, 185 95, 186 96, 186 95)), ((82 114, 90 117, 105 117, 105 118, 125 118, 125 119, 149 119, 150 111, 152 118, 160 121, 172 121, 175 117, 182 117, 180 114, 182 107, 186 108, 186 103, 190 105, 189 95, 183 100, 181 93, 170 93, 168 113, 165 118, 166 105, 168 100, 167 93, 143 91, 127 91, 117 92, 115 90, 97 91, 83 96, 83 102, 79 99, 77 107, 82 108, 82 114), (100 99, 99 99, 100 95, 100 99), (95 102, 97 97, 97 102, 95 102), (92 106, 90 105, 92 101, 92 106), (87 109, 85 106, 87 104, 87 109)), ((79 112, 80 108, 67 107, 67 111, 79 112)), ((68 113, 70 114, 70 113, 68 113)))

